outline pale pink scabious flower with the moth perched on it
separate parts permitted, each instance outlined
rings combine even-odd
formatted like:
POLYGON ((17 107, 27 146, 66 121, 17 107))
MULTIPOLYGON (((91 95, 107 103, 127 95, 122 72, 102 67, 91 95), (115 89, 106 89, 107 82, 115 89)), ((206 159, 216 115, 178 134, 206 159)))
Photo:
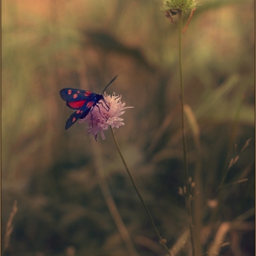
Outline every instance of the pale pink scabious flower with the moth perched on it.
POLYGON ((125 109, 133 107, 125 107, 125 102, 121 101, 122 96, 108 95, 106 92, 103 94, 104 101, 99 101, 92 111, 79 123, 86 122, 88 124, 87 132, 97 139, 98 133, 101 134, 102 140, 105 139, 103 131, 107 130, 109 126, 112 128, 119 128, 124 125, 123 118, 120 116, 124 113, 125 109))

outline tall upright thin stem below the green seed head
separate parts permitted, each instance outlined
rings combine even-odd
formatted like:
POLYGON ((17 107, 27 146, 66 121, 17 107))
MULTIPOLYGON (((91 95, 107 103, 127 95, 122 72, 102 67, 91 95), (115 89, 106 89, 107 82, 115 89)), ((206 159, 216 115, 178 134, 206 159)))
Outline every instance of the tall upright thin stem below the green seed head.
POLYGON ((184 85, 183 85, 183 71, 182 71, 182 18, 183 12, 178 11, 178 51, 179 51, 179 79, 180 79, 180 91, 181 91, 181 130, 182 130, 182 143, 183 143, 183 153, 184 153, 184 165, 185 165, 185 185, 186 185, 186 203, 187 203, 187 219, 190 230, 190 240, 192 244, 192 255, 196 255, 195 252, 195 242, 193 233, 193 221, 192 221, 192 211, 189 199, 189 181, 188 181, 188 171, 187 171, 187 144, 186 144, 186 134, 185 134, 185 112, 184 112, 184 85))

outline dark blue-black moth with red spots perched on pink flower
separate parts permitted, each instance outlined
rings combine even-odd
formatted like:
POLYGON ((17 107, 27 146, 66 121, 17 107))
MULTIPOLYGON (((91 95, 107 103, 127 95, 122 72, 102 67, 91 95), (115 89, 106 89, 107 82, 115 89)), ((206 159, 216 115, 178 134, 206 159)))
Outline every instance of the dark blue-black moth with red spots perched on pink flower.
MULTIPOLYGON (((101 94, 97 94, 91 91, 84 91, 80 89, 74 89, 74 88, 64 88, 59 91, 60 97, 63 101, 66 101, 66 105, 72 109, 76 110, 73 112, 69 119, 66 122, 65 129, 69 129, 71 125, 76 123, 79 119, 85 118, 89 112, 92 112, 93 108, 99 106, 97 104, 100 104, 99 101, 104 101, 103 93, 108 88, 108 86, 112 83, 113 80, 116 79, 117 76, 115 76, 104 88, 101 94)), ((105 102, 105 101, 104 101, 105 102)), ((105 102, 105 105, 107 109, 110 107, 105 102)), ((100 111, 100 108, 99 108, 100 111)), ((92 115, 91 115, 92 117, 92 115)))

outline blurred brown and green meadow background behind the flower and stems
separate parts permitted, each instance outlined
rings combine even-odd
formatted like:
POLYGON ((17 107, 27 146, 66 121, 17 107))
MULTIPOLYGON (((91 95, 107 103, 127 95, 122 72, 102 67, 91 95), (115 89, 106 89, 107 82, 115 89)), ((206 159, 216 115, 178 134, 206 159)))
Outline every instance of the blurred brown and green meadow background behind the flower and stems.
MULTIPOLYGON (((2 3, 5 255, 135 255, 116 226, 110 195, 134 251, 165 255, 110 131, 95 142, 84 123, 64 129, 71 110, 59 90, 101 93, 116 74, 107 92, 134 107, 115 131, 123 155, 167 247, 189 255, 177 23, 162 5, 2 3)), ((193 182, 199 174, 200 207, 193 210, 200 216, 203 255, 225 222, 232 228, 222 234, 219 255, 254 255, 253 8, 252 0, 201 0, 183 35, 185 99, 197 123, 186 123, 188 171, 193 182)))

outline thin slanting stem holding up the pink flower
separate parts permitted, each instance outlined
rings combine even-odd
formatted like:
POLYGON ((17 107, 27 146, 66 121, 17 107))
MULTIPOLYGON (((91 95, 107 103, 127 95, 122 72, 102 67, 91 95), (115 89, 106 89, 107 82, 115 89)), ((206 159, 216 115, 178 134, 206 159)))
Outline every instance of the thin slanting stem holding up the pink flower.
POLYGON ((140 197, 140 199, 141 199, 141 201, 142 201, 142 203, 143 203, 143 205, 144 205, 145 211, 146 211, 146 213, 147 213, 147 215, 148 215, 148 217, 149 217, 149 219, 150 219, 150 221, 151 221, 151 224, 152 224, 153 228, 155 229, 155 233, 157 234, 157 237, 159 238, 159 242, 164 246, 165 251, 167 251, 169 255, 172 255, 171 252, 168 250, 166 244, 165 244, 166 240, 161 237, 160 233, 158 232, 158 230, 157 230, 156 227, 155 227, 155 223, 154 223, 154 220, 153 220, 153 218, 152 218, 152 216, 151 216, 151 214, 150 214, 150 212, 149 212, 149 209, 147 208, 147 206, 146 206, 146 204, 145 204, 145 202, 144 202, 144 199, 143 199, 143 197, 141 196, 141 193, 139 192, 138 187, 136 186, 136 184, 135 184, 135 182, 134 182, 134 180, 133 180, 133 176, 132 176, 132 174, 130 173, 130 170, 129 170, 128 166, 126 165, 126 162, 125 162, 125 160, 124 160, 124 158, 123 158, 123 154, 122 154, 121 149, 120 149, 120 146, 119 146, 119 144, 118 144, 118 142, 117 142, 117 140, 116 140, 116 137, 115 137, 115 135, 114 135, 114 132, 113 132, 112 127, 111 127, 111 131, 112 131, 112 138, 113 138, 114 144, 116 145, 116 148, 117 148, 117 150, 118 150, 118 153, 119 153, 119 155, 120 155, 120 157, 121 157, 121 159, 122 159, 122 161, 123 161, 123 165, 124 165, 124 167, 125 167, 125 169, 126 169, 128 175, 130 176, 130 178, 131 178, 131 180, 132 180, 133 187, 135 188, 135 190, 136 190, 136 192, 137 192, 137 195, 140 197))

